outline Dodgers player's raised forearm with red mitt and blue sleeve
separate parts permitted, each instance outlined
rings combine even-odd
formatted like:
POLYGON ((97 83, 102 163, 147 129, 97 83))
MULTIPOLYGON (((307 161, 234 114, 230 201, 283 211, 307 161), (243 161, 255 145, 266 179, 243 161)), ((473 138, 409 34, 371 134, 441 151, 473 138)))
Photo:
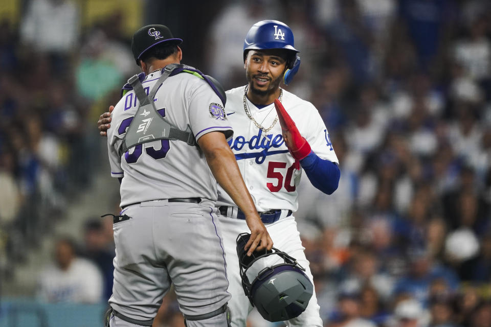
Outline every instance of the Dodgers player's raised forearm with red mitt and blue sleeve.
POLYGON ((312 151, 279 100, 275 100, 275 108, 286 147, 295 160, 300 162, 312 185, 323 193, 332 194, 338 189, 341 176, 338 165, 335 162, 321 159, 312 151))

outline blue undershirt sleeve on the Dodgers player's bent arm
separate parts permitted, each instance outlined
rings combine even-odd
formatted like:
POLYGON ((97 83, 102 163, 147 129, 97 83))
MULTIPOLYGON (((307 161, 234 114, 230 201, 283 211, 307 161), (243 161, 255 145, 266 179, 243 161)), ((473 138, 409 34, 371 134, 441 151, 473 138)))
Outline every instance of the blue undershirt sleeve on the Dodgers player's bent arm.
POLYGON ((332 194, 338 189, 341 172, 337 164, 321 159, 311 151, 309 155, 300 160, 305 174, 316 189, 325 194, 332 194))

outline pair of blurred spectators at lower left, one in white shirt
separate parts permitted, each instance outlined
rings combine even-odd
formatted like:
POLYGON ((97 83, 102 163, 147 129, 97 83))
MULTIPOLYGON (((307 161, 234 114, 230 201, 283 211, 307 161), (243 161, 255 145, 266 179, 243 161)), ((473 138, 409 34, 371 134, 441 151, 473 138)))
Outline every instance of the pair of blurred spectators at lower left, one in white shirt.
POLYGON ((115 253, 113 221, 87 219, 80 244, 70 237, 57 238, 53 263, 37 276, 36 297, 60 303, 101 303, 113 293, 115 253))

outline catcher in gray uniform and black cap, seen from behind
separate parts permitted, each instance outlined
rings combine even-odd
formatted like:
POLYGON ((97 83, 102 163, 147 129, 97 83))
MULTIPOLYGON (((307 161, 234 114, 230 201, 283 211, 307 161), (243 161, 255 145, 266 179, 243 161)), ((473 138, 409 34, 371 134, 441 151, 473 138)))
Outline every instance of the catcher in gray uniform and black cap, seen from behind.
POLYGON ((273 246, 227 144, 224 92, 180 64, 181 42, 163 25, 133 35, 143 73, 128 80, 111 116, 108 155, 122 212, 106 326, 151 326, 171 283, 188 327, 229 325, 216 182, 247 214, 248 253, 273 246))

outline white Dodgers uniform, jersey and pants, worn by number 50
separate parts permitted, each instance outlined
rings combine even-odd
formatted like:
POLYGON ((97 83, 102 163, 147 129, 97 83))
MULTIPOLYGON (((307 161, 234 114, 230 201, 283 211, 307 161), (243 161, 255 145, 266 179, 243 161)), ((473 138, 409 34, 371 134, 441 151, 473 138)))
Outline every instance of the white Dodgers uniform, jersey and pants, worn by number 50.
MULTIPOLYGON (((229 122, 234 127, 234 137, 229 143, 258 211, 274 213, 261 216, 277 216, 273 219, 278 220, 272 223, 263 220, 275 247, 297 259, 298 263, 306 268, 307 276, 312 279, 297 224, 292 215, 298 209, 296 185, 300 182, 301 170, 295 168, 296 160, 288 152, 279 123, 264 132, 249 119, 243 110, 244 91, 245 86, 227 91, 226 112, 229 122), (232 111, 231 108, 238 110, 232 111)), ((245 101, 256 122, 261 122, 266 129, 273 125, 277 117, 274 104, 259 109, 248 97, 245 101)), ((326 128, 317 109, 284 89, 281 102, 311 149, 321 158, 338 162, 331 146, 326 145, 326 128)), ((232 326, 243 327, 252 307, 242 289, 235 240, 239 233, 247 231, 247 225, 244 220, 237 219, 238 208, 220 188, 218 195, 217 205, 222 214, 219 219, 227 254, 229 292, 232 294, 229 301, 232 326)), ((287 324, 298 327, 323 325, 315 293, 305 312, 287 324)))

